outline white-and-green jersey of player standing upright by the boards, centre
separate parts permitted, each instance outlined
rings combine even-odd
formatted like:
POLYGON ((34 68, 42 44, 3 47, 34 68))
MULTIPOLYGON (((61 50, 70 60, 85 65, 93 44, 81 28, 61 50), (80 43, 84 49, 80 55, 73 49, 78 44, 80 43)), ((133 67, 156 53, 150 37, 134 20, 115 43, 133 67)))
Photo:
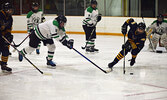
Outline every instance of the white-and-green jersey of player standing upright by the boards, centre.
POLYGON ((85 10, 83 25, 93 27, 97 24, 98 9, 93 9, 91 6, 85 10))

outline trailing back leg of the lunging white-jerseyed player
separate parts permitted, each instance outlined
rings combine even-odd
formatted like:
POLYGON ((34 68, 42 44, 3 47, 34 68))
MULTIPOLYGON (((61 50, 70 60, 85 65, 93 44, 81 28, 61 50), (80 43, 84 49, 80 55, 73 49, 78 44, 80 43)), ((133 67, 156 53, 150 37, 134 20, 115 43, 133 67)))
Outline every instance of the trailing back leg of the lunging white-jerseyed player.
POLYGON ((23 55, 32 53, 37 47, 41 40, 35 35, 34 31, 30 35, 29 46, 23 48, 19 53, 19 61, 23 60, 23 55))

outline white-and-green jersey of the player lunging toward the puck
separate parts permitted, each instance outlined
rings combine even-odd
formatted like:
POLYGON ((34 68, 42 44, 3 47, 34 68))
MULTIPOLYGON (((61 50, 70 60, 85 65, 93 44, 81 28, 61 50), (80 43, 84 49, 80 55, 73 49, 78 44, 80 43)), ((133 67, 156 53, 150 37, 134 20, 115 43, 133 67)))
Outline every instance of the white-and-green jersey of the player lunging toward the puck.
POLYGON ((65 29, 59 28, 59 23, 56 20, 45 21, 44 23, 35 26, 35 34, 41 40, 56 39, 60 41, 66 37, 65 29))

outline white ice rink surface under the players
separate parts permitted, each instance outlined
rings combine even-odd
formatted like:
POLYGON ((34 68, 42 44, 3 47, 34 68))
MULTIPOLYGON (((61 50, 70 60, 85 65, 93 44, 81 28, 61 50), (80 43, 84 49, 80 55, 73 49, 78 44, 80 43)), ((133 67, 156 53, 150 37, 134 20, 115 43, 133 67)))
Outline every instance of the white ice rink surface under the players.
MULTIPOLYGON (((26 34, 14 34, 19 44, 26 34)), ((96 47, 100 52, 86 54, 84 35, 69 35, 75 40, 74 48, 83 53, 101 68, 106 68, 123 44, 123 37, 97 36, 96 47)), ((121 60, 114 71, 105 74, 94 65, 55 41, 54 61, 56 69, 46 67, 47 48, 41 46, 41 54, 33 52, 27 57, 42 71, 52 75, 41 75, 25 59, 18 61, 18 53, 12 52, 8 66, 12 74, 0 72, 0 100, 167 100, 167 53, 147 51, 148 42, 138 55, 134 67, 130 67, 126 56, 126 74, 121 60), (134 75, 130 75, 133 72, 134 75)), ((28 45, 28 40, 18 49, 28 45)))

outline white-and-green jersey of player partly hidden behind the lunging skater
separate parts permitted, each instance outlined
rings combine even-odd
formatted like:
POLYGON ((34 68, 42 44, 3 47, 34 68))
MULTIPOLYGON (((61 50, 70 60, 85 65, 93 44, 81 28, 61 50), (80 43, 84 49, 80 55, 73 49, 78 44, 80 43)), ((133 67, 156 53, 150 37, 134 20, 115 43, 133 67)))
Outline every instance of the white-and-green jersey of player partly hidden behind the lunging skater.
POLYGON ((41 9, 38 12, 34 13, 33 11, 28 12, 27 14, 27 26, 34 28, 37 24, 42 23, 43 12, 41 9))

